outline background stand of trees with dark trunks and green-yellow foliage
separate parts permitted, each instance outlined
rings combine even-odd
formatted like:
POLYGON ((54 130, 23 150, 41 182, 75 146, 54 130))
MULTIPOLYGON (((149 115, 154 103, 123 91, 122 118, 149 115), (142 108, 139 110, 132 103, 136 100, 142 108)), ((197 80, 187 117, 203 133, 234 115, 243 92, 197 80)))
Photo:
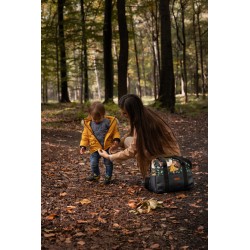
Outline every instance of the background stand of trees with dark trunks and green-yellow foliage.
POLYGON ((42 103, 208 93, 207 0, 42 0, 42 103))

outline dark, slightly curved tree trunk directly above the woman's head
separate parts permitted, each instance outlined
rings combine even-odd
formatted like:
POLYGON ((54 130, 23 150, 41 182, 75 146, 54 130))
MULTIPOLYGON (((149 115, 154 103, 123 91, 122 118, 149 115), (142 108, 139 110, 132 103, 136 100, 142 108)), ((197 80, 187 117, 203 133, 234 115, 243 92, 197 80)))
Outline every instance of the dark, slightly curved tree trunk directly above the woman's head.
POLYGON ((120 54, 118 59, 118 100, 127 94, 128 73, 128 29, 126 22, 125 0, 117 0, 120 54))

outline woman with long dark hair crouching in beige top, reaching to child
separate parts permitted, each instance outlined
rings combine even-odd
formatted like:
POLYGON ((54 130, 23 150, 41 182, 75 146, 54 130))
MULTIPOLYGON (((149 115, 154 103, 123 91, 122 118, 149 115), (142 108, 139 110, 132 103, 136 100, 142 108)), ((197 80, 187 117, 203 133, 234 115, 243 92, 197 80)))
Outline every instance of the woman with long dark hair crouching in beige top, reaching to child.
POLYGON ((180 148, 169 125, 152 109, 145 107, 134 94, 127 94, 118 103, 122 113, 129 119, 131 144, 123 151, 99 154, 110 161, 120 162, 135 157, 142 176, 148 175, 151 160, 157 157, 181 155, 180 148))

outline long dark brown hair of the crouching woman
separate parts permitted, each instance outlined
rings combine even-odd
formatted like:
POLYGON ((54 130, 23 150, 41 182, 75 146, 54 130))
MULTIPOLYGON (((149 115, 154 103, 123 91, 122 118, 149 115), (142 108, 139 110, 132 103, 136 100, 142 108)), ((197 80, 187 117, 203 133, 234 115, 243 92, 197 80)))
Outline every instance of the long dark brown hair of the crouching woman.
POLYGON ((144 107, 141 99, 137 95, 127 94, 120 98, 119 107, 126 111, 130 120, 130 130, 134 128, 137 133, 136 150, 138 162, 140 162, 141 173, 146 175, 148 166, 143 162, 146 153, 151 156, 164 155, 163 145, 173 148, 171 143, 174 136, 169 125, 155 111, 144 107))

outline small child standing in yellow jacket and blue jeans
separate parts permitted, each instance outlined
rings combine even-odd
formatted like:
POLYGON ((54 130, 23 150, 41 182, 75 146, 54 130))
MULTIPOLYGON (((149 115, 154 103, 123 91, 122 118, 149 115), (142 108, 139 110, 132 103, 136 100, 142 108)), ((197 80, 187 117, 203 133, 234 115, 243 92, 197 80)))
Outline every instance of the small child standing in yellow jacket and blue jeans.
MULTIPOLYGON (((105 108, 101 102, 93 102, 89 108, 89 116, 84 119, 84 129, 80 142, 80 154, 87 147, 90 150, 90 167, 92 174, 87 178, 89 181, 100 179, 99 160, 101 156, 98 149, 106 152, 117 150, 120 142, 117 119, 113 116, 105 116, 105 108)), ((106 167, 104 184, 109 184, 113 173, 113 163, 103 158, 106 167)))

